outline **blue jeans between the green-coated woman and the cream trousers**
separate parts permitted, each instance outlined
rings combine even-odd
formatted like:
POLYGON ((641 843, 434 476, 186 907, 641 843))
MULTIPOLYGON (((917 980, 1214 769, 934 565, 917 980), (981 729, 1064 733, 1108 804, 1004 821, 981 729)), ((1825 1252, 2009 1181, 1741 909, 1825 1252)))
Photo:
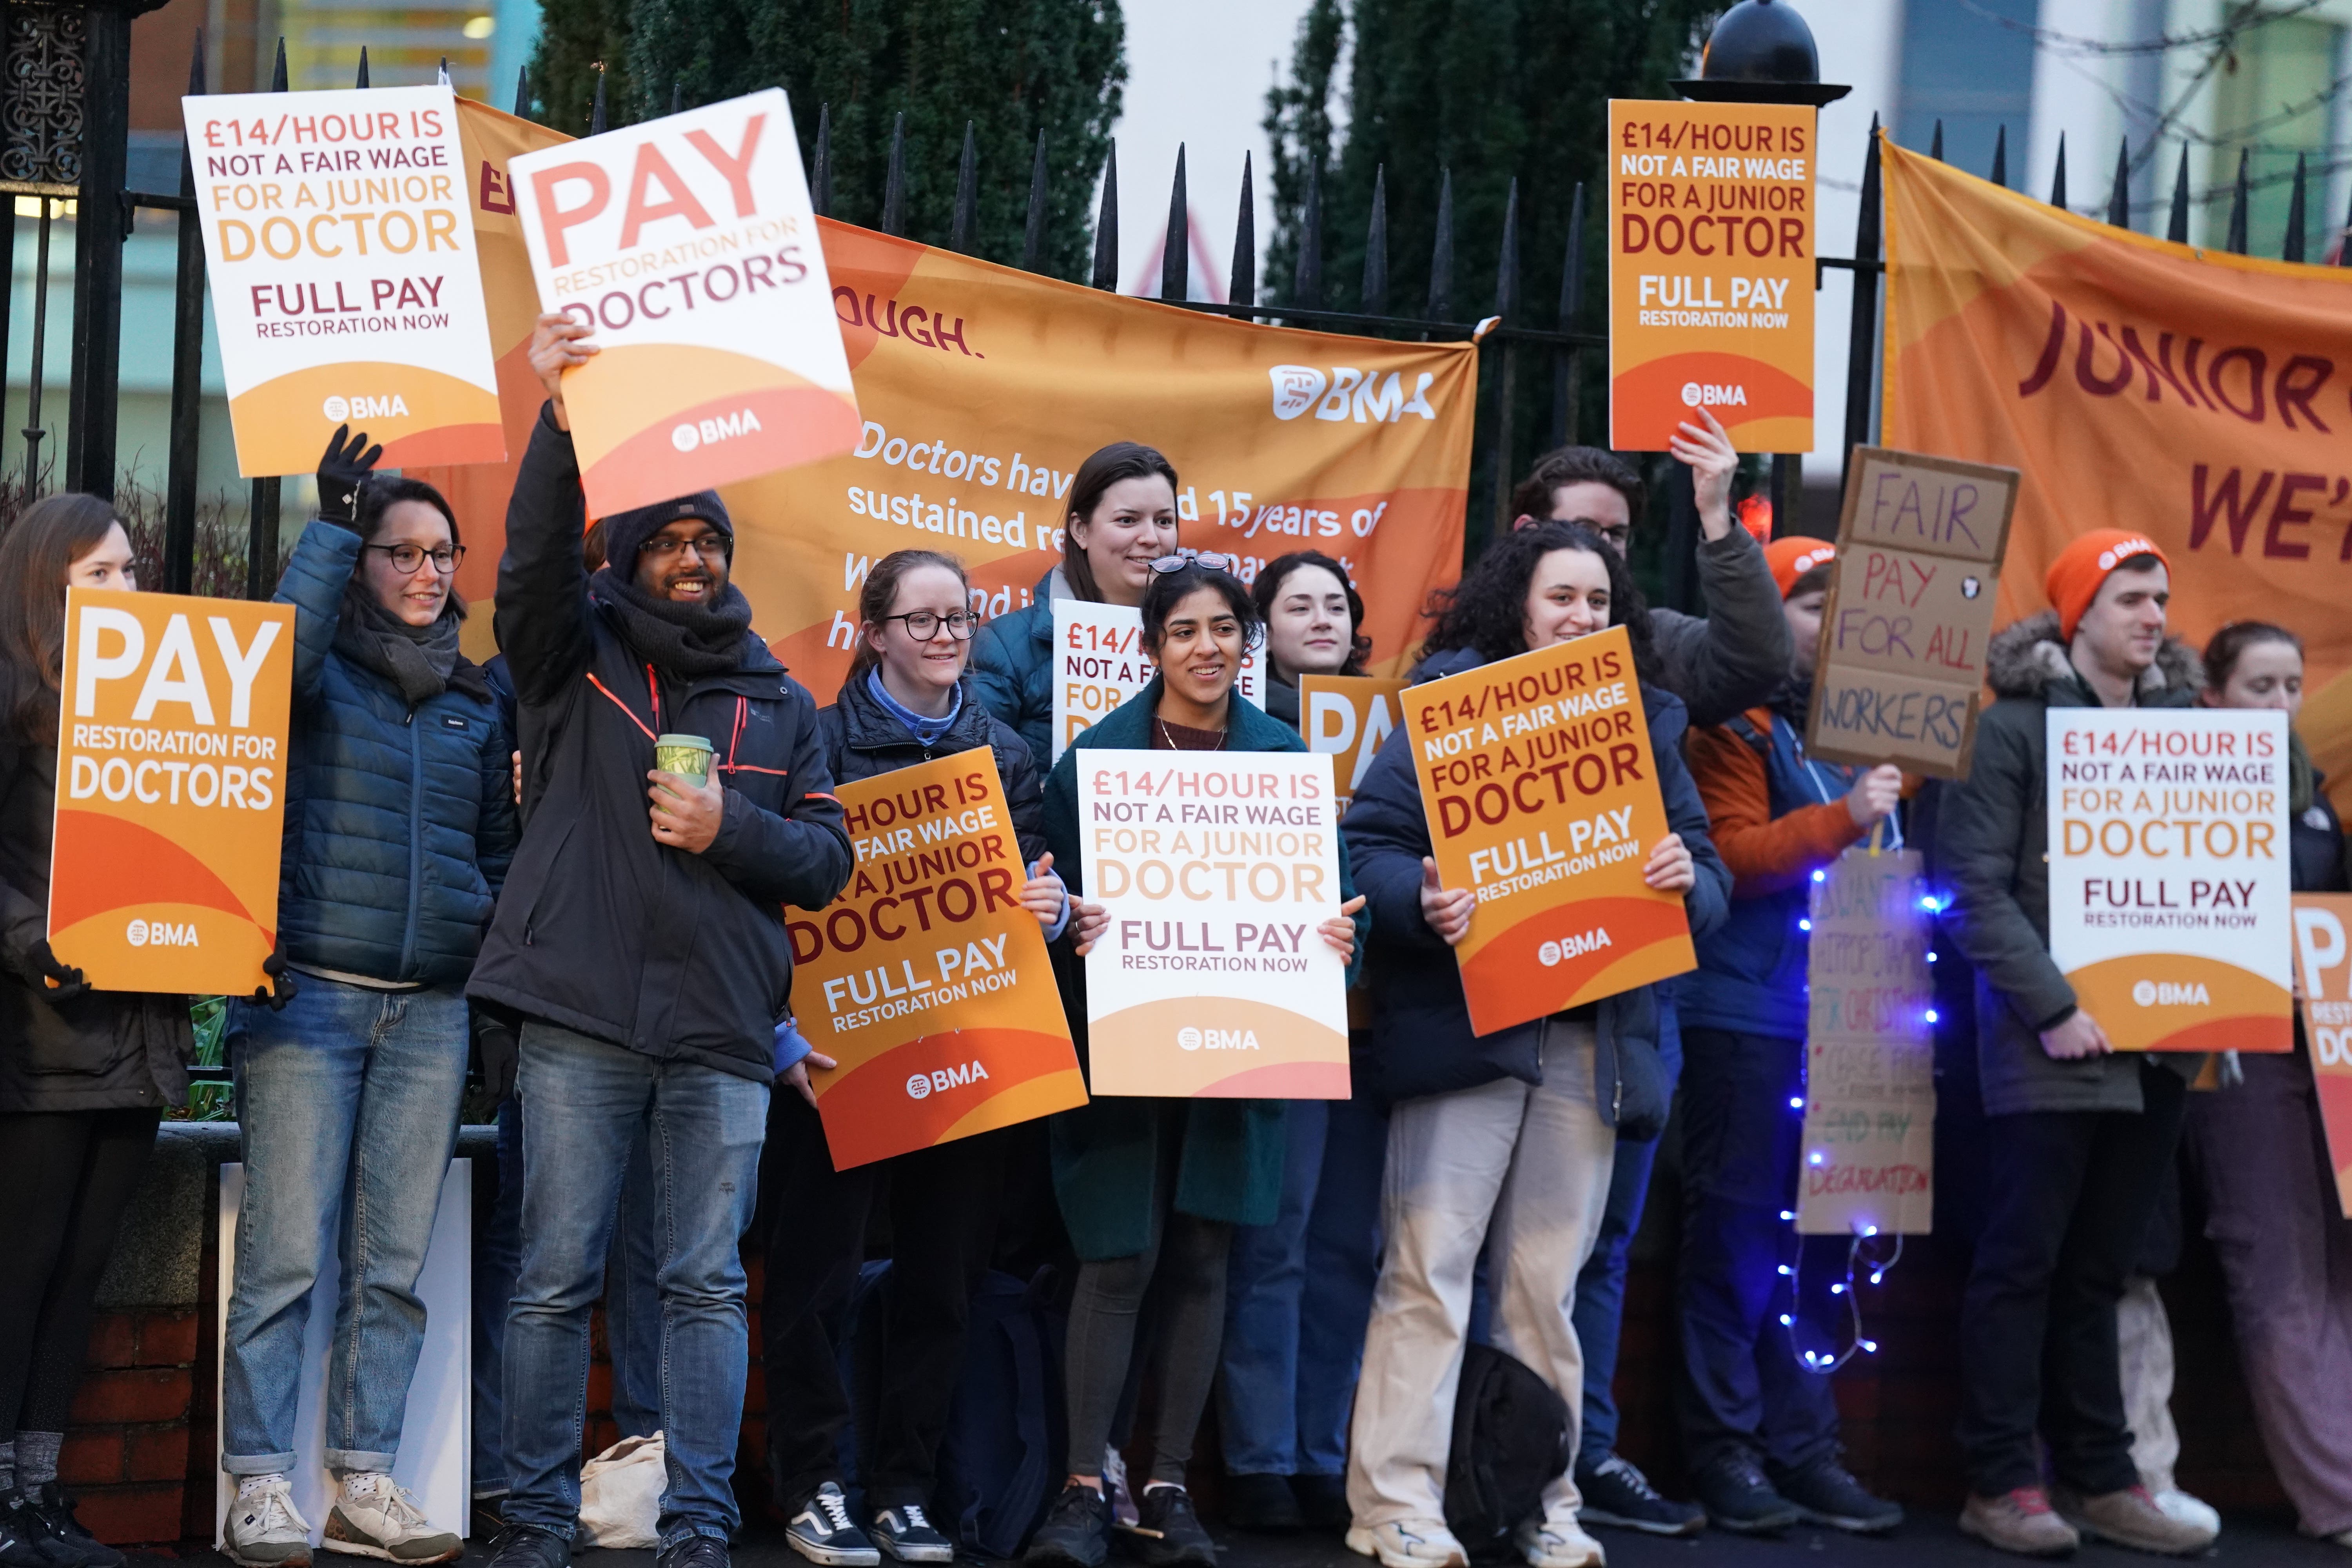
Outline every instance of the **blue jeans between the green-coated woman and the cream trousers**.
POLYGON ((1237 1476, 1348 1472, 1348 1413, 1381 1274, 1388 1114, 1291 1100, 1282 1211, 1232 1232, 1218 1432, 1237 1476))

